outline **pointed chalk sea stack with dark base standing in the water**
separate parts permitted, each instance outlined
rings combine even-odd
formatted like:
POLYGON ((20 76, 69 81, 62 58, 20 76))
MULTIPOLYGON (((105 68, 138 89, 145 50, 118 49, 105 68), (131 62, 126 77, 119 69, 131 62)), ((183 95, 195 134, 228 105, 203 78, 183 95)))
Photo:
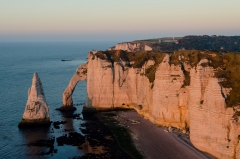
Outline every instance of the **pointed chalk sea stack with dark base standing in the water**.
POLYGON ((28 100, 18 127, 50 125, 49 107, 47 105, 42 82, 35 72, 32 86, 28 90, 28 100))

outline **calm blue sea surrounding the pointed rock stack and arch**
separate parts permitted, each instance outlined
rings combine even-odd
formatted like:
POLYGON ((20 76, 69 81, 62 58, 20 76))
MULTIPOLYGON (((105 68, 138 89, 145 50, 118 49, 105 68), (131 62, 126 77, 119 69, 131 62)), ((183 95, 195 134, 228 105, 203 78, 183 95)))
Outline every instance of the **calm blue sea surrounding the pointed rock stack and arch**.
MULTIPOLYGON (((106 50, 116 42, 1 42, 0 43, 0 158, 72 158, 84 154, 76 146, 58 146, 56 153, 41 155, 46 147, 31 142, 60 136, 63 129, 79 131, 84 120, 65 118, 56 110, 62 106, 62 93, 78 66, 87 62, 90 50, 106 50), (66 61, 62 61, 66 60, 66 61), (19 129, 31 87, 33 73, 41 79, 51 121, 67 121, 61 129, 19 129)), ((86 81, 73 93, 74 103, 86 100, 86 81)), ((75 113, 81 114, 84 104, 75 113)))

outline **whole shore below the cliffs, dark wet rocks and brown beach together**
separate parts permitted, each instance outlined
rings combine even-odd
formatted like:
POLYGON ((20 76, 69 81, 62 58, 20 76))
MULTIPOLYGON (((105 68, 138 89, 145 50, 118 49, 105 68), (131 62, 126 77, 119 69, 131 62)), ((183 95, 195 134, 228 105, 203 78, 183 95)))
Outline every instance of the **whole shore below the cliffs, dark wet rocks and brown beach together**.
POLYGON ((189 136, 179 129, 156 126, 135 110, 62 112, 62 115, 65 117, 62 121, 51 122, 47 129, 51 130, 50 138, 34 138, 27 143, 28 147, 37 147, 38 155, 59 156, 70 146, 78 151, 70 157, 73 159, 214 159, 197 150, 189 136), (79 122, 79 127, 74 129, 73 122, 79 122))

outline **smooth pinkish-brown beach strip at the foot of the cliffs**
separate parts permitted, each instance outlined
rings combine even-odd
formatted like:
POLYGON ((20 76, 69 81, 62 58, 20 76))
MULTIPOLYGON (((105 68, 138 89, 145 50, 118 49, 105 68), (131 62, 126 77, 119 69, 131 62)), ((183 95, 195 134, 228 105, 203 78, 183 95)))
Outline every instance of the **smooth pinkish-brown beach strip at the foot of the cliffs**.
POLYGON ((133 132, 134 142, 148 159, 211 159, 213 157, 194 148, 186 139, 181 140, 173 133, 164 131, 150 121, 140 117, 135 111, 119 112, 117 118, 120 123, 126 123, 133 132), (130 121, 139 121, 133 123, 130 121), (128 121, 128 122, 126 122, 128 121))

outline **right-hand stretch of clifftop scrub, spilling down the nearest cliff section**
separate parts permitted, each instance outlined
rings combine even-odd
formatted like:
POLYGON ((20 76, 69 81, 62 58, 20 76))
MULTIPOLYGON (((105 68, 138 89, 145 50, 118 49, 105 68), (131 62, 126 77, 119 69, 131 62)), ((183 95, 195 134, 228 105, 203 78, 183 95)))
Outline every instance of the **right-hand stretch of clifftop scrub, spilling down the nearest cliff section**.
POLYGON ((189 64, 191 67, 196 67, 201 59, 208 59, 208 63, 202 63, 201 65, 203 67, 213 67, 215 69, 215 77, 223 79, 219 84, 225 88, 232 88, 230 95, 226 99, 227 106, 232 107, 240 103, 239 53, 218 53, 199 50, 177 51, 171 56, 170 63, 174 65, 180 64, 179 56, 183 56, 181 61, 189 64))

